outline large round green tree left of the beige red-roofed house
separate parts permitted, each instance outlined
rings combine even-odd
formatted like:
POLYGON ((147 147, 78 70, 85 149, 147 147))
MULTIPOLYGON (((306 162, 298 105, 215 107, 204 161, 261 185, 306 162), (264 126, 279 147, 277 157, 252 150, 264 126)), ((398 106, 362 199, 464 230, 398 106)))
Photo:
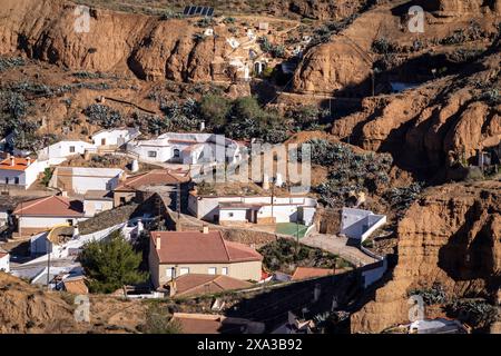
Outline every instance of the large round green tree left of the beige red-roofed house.
POLYGON ((141 254, 134 251, 120 231, 111 233, 105 240, 86 244, 78 259, 92 293, 114 293, 148 278, 148 274, 138 270, 141 254))

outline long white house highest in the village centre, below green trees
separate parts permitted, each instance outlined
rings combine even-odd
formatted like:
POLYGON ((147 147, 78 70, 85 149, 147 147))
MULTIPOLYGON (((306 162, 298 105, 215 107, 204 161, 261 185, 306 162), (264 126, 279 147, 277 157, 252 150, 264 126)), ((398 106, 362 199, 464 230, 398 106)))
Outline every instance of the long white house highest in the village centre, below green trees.
POLYGON ((127 150, 149 162, 184 165, 237 162, 242 159, 236 141, 214 134, 164 134, 153 140, 134 140, 127 150))

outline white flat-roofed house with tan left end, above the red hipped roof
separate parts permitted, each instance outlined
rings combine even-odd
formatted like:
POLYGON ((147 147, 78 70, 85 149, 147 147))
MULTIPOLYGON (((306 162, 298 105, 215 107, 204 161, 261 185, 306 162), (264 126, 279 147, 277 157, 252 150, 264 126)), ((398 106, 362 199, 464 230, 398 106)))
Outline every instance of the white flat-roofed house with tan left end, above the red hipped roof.
POLYGON ((57 167, 49 187, 76 194, 89 190, 114 190, 125 172, 120 168, 57 167))

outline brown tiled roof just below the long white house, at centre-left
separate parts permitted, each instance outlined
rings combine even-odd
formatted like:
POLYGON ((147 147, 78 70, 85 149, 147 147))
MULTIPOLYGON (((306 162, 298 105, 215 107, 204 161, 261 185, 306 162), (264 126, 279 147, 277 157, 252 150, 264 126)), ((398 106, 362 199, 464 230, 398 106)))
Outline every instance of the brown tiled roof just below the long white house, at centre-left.
POLYGON ((188 180, 189 177, 187 175, 167 169, 154 169, 146 174, 127 178, 115 190, 137 190, 147 186, 176 185, 188 180))

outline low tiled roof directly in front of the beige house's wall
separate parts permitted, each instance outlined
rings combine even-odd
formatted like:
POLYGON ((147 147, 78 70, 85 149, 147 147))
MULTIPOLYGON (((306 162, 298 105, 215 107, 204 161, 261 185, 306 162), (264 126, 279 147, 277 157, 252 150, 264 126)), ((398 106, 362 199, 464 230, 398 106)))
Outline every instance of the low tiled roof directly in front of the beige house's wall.
POLYGON ((176 296, 214 294, 252 286, 249 281, 228 276, 188 274, 176 278, 176 296))

